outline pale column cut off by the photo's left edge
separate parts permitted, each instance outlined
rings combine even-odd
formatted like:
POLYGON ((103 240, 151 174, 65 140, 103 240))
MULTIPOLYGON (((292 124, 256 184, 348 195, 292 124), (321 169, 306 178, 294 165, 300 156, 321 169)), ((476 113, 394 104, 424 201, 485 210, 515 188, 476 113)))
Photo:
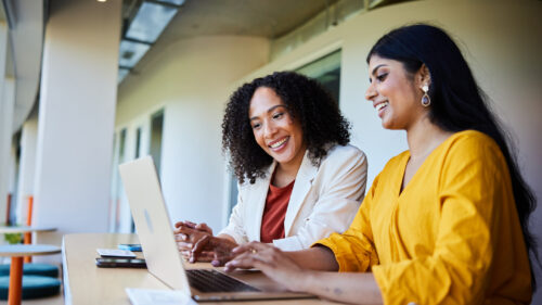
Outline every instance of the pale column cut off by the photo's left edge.
POLYGON ((0 23, 0 223, 5 220, 10 150, 13 120, 13 101, 4 97, 8 25, 0 23))

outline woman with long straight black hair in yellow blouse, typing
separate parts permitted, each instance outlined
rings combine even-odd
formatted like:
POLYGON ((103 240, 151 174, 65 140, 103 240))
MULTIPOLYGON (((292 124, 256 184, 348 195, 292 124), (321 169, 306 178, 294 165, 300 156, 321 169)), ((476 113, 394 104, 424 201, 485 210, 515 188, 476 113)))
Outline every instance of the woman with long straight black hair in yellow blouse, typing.
POLYGON ((298 252, 245 244, 227 270, 349 303, 528 304, 534 199, 461 51, 413 25, 380 38, 367 63, 366 99, 385 128, 406 130, 409 150, 345 233, 298 252))

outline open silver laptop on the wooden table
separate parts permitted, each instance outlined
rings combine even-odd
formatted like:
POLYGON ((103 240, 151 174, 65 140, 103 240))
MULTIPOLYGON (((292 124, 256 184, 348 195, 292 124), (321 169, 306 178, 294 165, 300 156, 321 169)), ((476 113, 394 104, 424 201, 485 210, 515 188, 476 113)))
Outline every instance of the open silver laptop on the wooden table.
POLYGON ((185 269, 152 157, 121 164, 119 170, 149 272, 171 289, 196 301, 314 297, 287 292, 259 271, 235 271, 230 277, 216 268, 185 269))

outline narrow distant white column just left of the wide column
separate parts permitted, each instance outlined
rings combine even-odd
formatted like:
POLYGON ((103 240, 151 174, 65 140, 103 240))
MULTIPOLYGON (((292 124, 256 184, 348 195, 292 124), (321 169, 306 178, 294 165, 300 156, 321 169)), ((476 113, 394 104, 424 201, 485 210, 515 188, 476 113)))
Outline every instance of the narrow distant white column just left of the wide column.
POLYGON ((34 195, 36 171, 36 144, 38 142, 38 116, 27 119, 21 130, 21 160, 18 167, 17 224, 26 224, 28 196, 34 195))

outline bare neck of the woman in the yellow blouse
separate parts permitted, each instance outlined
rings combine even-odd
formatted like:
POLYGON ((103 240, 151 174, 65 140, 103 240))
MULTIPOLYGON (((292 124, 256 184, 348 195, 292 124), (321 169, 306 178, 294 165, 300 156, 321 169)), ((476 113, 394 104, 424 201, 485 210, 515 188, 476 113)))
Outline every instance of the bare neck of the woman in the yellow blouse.
POLYGON ((406 128, 406 140, 412 158, 425 158, 440 145, 452 132, 444 131, 424 116, 413 126, 406 128))

